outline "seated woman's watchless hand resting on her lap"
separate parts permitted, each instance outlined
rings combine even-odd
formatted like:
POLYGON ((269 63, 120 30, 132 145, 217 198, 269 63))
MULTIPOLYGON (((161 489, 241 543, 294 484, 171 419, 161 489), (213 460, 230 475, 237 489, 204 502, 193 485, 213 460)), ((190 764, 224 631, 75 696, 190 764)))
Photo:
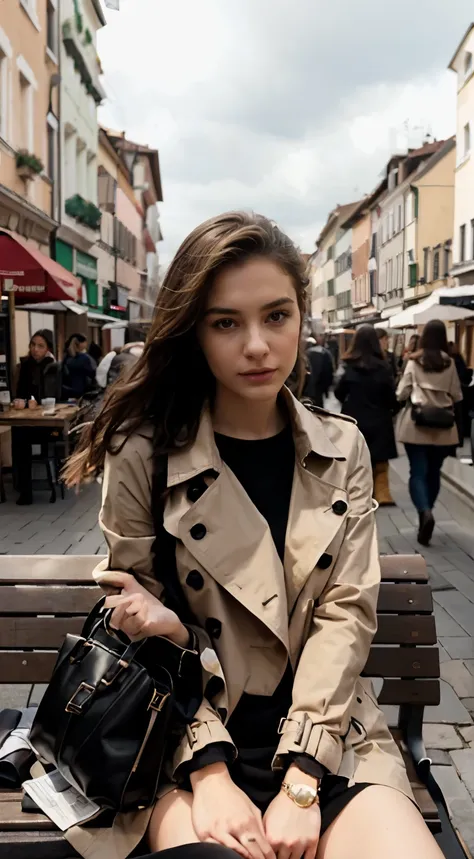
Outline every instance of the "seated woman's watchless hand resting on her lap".
POLYGON ((275 859, 260 811, 234 784, 224 763, 191 773, 191 784, 192 820, 200 841, 230 847, 244 859, 275 859))

